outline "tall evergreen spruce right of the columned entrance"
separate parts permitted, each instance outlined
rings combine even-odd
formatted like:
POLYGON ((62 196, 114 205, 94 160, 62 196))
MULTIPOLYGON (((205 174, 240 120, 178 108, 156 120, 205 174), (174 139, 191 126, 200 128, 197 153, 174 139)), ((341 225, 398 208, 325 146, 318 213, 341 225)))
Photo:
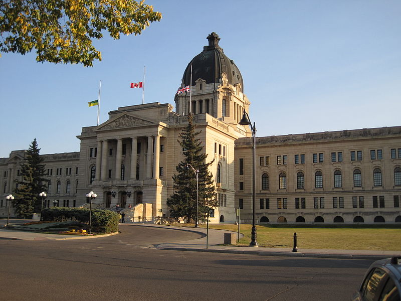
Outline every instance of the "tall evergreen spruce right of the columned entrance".
POLYGON ((184 149, 184 161, 176 166, 177 173, 172 177, 174 193, 167 199, 170 207, 170 216, 182 217, 191 222, 196 218, 196 176, 190 164, 198 173, 198 221, 206 220, 208 207, 217 206, 216 191, 213 184, 213 175, 209 172, 209 166, 213 163, 206 163, 207 155, 203 152, 196 136, 200 131, 195 132, 192 123, 192 114, 188 115, 188 125, 182 130, 178 143, 184 149))

